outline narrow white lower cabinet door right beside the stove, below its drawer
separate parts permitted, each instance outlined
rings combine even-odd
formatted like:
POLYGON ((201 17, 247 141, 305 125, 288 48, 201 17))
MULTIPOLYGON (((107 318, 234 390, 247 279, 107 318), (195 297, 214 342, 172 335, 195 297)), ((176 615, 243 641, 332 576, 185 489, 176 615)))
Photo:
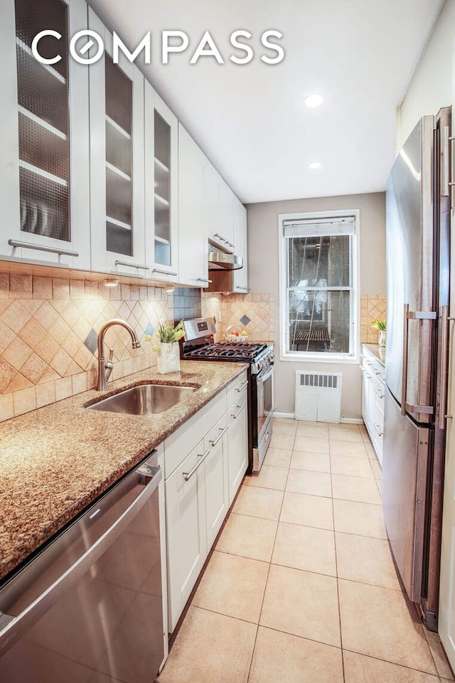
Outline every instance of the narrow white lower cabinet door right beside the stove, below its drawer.
POLYGON ((245 390, 228 410, 229 504, 248 465, 248 394, 245 390))

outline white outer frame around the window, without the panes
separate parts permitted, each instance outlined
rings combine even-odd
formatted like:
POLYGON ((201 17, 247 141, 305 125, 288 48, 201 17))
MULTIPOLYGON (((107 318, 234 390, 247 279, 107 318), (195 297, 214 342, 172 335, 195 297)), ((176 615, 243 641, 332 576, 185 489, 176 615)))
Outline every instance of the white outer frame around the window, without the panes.
MULTIPOLYGON (((360 211, 359 209, 340 209, 336 211, 308 211, 302 213, 279 213, 278 215, 279 246, 279 358, 282 361, 321 362, 336 364, 358 364, 360 336, 360 211), (287 329, 287 239, 284 237, 284 221, 306 221, 328 218, 354 218, 354 234, 350 268, 352 269, 352 300, 350 302, 351 336, 350 351, 347 354, 327 353, 326 351, 289 351, 287 329)), ((338 287, 337 287, 338 290, 338 287)))

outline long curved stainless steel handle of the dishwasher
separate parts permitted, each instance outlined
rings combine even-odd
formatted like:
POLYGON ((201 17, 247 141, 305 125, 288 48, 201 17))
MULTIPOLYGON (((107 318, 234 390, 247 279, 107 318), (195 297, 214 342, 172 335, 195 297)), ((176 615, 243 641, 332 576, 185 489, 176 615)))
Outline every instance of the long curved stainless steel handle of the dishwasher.
MULTIPOLYGON (((63 593, 70 586, 77 583, 90 566, 107 551, 144 507, 151 495, 156 491, 163 477, 161 467, 152 467, 146 462, 137 467, 136 470, 133 470, 132 474, 134 473, 139 474, 140 483, 144 484, 144 489, 134 498, 133 502, 129 504, 129 507, 122 512, 114 523, 109 526, 109 529, 20 614, 13 616, 5 614, 0 610, 0 655, 3 650, 12 645, 31 625, 48 612, 63 593)), ((92 507, 85 514, 90 514, 90 512, 92 512, 92 507)), ((27 570, 24 569, 23 571, 27 570)))

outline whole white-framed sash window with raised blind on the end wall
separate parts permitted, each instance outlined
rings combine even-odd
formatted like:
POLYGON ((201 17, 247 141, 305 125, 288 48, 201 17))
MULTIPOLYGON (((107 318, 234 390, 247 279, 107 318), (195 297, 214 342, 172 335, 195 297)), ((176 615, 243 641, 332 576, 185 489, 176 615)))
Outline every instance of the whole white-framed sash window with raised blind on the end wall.
POLYGON ((358 212, 279 216, 285 359, 353 359, 358 212))

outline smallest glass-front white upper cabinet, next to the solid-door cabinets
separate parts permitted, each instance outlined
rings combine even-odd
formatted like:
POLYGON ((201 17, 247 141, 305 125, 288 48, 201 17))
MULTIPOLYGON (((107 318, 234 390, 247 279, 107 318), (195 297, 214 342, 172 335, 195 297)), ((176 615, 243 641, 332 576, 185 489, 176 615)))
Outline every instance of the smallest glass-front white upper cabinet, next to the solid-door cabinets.
POLYGON ((146 260, 155 280, 178 280, 178 122, 147 81, 145 112, 146 260))

